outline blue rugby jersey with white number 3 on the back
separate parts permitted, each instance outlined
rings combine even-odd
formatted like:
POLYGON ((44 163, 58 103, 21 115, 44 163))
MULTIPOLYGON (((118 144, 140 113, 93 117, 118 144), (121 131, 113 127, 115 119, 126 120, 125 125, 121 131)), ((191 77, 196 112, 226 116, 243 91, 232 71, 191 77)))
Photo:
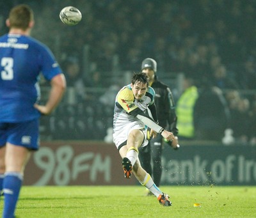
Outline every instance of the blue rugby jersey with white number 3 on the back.
POLYGON ((24 35, 0 37, 0 122, 39 118, 39 75, 51 81, 62 70, 43 43, 24 35))

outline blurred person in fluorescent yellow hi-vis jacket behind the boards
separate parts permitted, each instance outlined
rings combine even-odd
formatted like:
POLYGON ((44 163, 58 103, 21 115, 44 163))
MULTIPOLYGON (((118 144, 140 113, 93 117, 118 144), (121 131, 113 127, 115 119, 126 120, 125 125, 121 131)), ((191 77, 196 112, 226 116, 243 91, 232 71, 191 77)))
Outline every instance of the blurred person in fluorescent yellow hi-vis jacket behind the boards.
POLYGON ((198 98, 198 90, 195 86, 195 79, 184 76, 183 93, 176 105, 177 127, 179 128, 179 139, 195 139, 194 128, 194 106, 198 98))

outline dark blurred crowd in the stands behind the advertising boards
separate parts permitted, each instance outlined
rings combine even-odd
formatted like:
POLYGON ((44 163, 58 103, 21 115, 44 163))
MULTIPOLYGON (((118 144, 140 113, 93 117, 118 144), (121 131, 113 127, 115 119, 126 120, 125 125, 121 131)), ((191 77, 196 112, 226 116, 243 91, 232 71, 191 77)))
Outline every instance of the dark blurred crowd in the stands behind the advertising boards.
POLYGON ((18 3, 33 8, 31 35, 67 76, 65 99, 42 118, 42 140, 110 142, 115 95, 150 57, 173 92, 180 139, 256 145, 256 1, 1 1, 1 35, 18 3), (81 11, 77 26, 59 19, 65 6, 81 11))

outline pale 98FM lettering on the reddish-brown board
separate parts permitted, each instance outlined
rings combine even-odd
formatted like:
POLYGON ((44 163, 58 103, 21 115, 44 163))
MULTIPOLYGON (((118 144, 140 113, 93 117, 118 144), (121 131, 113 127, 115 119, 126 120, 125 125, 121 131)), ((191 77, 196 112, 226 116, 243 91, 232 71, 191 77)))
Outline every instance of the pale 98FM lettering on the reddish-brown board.
POLYGON ((64 145, 55 152, 49 147, 42 147, 34 155, 34 161, 38 168, 44 170, 44 174, 33 185, 47 185, 53 179, 56 185, 68 185, 70 181, 77 179, 82 173, 89 173, 91 182, 97 180, 99 173, 104 175, 104 181, 111 180, 111 158, 104 159, 100 153, 84 152, 74 155, 72 146, 64 145), (70 167, 71 164, 71 167, 70 167))

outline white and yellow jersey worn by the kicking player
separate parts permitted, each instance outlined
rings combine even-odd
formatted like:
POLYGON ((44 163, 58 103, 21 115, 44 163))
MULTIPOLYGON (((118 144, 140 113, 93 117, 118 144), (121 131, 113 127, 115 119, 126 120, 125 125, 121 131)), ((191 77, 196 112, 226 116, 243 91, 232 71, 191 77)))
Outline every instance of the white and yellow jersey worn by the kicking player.
MULTIPOLYGON (((138 121, 138 123, 144 125, 142 121, 131 116, 129 113, 136 108, 140 108, 141 111, 145 112, 149 105, 154 104, 154 96, 155 91, 150 86, 148 86, 147 92, 140 101, 134 98, 131 84, 124 86, 120 91, 118 91, 115 100, 113 133, 118 132, 118 130, 122 130, 125 128, 127 123, 131 123, 132 121, 138 121)), ((147 126, 145 126, 145 128, 147 128, 147 126)))

